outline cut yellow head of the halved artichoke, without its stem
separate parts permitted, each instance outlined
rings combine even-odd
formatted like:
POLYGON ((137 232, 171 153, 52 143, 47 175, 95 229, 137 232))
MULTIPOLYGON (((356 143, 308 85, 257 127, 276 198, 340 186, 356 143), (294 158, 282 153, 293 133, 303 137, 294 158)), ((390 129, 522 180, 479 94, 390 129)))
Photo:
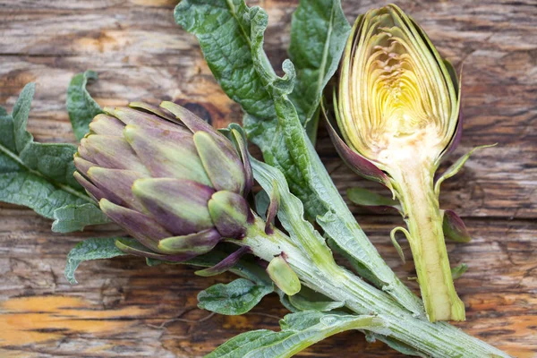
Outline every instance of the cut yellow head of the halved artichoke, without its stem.
POLYGON ((347 145, 390 172, 436 161, 458 119, 456 83, 413 21, 395 5, 361 16, 339 78, 337 119, 347 145))

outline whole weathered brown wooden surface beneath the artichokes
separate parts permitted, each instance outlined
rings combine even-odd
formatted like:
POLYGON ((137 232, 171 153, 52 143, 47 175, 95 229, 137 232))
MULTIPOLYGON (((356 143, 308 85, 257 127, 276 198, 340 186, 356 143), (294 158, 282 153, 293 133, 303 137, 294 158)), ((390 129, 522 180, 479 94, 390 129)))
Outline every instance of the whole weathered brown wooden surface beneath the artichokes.
MULTIPOLYGON (((384 1, 346 1, 349 20, 384 1)), ((253 4, 253 2, 251 3, 253 4)), ((263 1, 267 52, 286 58, 295 1, 263 1)), ((399 5, 422 24, 440 52, 464 62, 465 134, 455 155, 476 153, 443 185, 441 202, 465 217, 469 244, 448 244, 452 264, 470 269, 456 281, 467 307, 460 328, 518 357, 537 356, 537 3, 534 0, 410 1, 399 5)), ((239 121, 219 90, 196 40, 175 26, 168 0, 0 0, 0 105, 11 110, 25 83, 37 82, 29 129, 38 141, 74 141, 65 90, 76 72, 93 69, 90 92, 102 106, 130 100, 181 100, 213 124, 239 121)), ((342 192, 374 188, 341 165, 326 132, 321 156, 342 192)), ((390 245, 398 217, 352 207, 400 277, 412 277, 390 245)), ((116 233, 52 234, 29 209, 0 206, 0 356, 198 357, 252 328, 277 328, 286 310, 268 296, 241 317, 210 316, 196 294, 226 275, 192 268, 146 267, 135 258, 83 263, 80 285, 63 276, 65 255, 83 238, 116 233)), ((409 248, 404 244, 409 255, 409 248)), ((416 288, 414 286, 414 288, 416 288)), ((347 332, 305 351, 311 357, 396 357, 380 343, 347 332)))

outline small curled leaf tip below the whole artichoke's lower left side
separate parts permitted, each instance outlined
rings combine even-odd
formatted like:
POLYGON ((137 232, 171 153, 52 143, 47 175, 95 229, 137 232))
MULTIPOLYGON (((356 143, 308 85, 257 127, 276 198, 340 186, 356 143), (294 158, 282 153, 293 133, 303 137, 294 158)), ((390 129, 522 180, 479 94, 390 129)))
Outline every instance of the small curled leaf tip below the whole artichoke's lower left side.
MULTIPOLYGON (((67 263, 65 265, 64 275, 70 284, 77 284, 74 278, 74 271, 79 267, 81 262, 87 260, 111 259, 116 256, 124 256, 126 253, 115 247, 117 237, 91 238, 78 243, 69 251, 67 263)), ((124 238, 124 240, 134 239, 124 238)))

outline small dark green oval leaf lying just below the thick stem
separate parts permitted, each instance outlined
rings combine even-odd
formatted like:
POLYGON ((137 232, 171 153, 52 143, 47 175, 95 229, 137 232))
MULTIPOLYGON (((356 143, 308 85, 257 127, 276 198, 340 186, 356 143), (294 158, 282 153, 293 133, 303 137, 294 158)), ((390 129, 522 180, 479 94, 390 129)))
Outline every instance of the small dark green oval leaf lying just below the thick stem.
POLYGON ((256 285, 245 278, 237 278, 227 285, 217 284, 201 291, 198 307, 226 315, 243 314, 273 291, 272 286, 256 285))

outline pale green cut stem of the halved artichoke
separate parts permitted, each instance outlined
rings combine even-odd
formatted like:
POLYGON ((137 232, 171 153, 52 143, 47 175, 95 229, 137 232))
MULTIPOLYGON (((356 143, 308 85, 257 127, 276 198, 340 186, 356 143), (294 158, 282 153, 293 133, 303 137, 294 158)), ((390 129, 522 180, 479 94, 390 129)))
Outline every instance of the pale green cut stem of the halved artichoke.
POLYGON ((408 241, 429 320, 465 320, 465 304, 456 294, 451 277, 433 171, 419 165, 406 166, 396 176, 396 191, 405 212, 408 241))

